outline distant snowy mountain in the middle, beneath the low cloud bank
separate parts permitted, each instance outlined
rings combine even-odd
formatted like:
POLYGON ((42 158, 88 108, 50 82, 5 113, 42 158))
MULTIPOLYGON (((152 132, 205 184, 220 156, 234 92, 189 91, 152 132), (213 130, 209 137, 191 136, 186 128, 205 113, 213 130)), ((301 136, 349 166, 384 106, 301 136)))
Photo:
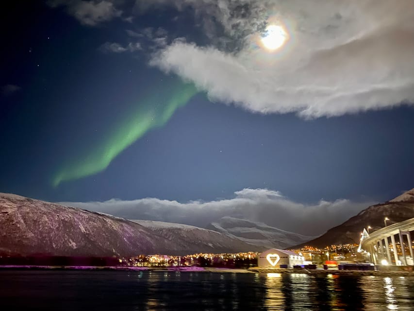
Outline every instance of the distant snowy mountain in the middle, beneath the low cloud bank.
POLYGON ((212 223, 207 228, 265 248, 283 249, 315 238, 281 230, 264 223, 233 217, 223 217, 219 222, 212 223))

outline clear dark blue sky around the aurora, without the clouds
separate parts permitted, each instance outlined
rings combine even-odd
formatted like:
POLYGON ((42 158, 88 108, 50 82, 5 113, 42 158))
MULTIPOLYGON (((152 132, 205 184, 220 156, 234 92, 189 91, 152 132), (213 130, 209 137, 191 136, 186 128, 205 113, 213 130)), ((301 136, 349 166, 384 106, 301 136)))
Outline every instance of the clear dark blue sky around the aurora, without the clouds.
MULTIPOLYGON (((120 2, 122 17, 129 17, 125 12, 132 5, 120 2)), ((0 5, 6 30, 0 58, 0 192, 49 201, 184 202, 267 188, 316 202, 383 201, 414 187, 410 105, 305 120, 295 112, 262 114, 211 102, 203 92, 104 171, 53 187, 51 179, 66 161, 104 141, 143 97, 181 80, 149 66, 155 35, 142 35, 145 29, 162 27, 168 38, 186 36, 199 45, 210 39, 195 17, 174 8, 150 10, 132 22, 114 18, 87 25, 66 6, 0 5), (139 34, 139 50, 102 50, 105 42, 126 42, 126 30, 139 34)))

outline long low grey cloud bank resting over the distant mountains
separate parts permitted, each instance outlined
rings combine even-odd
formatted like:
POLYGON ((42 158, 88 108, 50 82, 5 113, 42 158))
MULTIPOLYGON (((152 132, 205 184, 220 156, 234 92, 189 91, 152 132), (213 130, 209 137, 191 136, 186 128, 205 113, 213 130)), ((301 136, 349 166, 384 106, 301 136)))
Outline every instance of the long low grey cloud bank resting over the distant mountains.
POLYGON ((315 205, 294 202, 279 191, 243 189, 234 198, 210 202, 177 201, 145 198, 132 201, 112 199, 105 202, 63 202, 66 206, 112 214, 127 219, 143 219, 196 225, 206 225, 224 216, 263 222, 280 229, 318 235, 339 225, 373 202, 355 203, 340 199, 321 200, 315 205))

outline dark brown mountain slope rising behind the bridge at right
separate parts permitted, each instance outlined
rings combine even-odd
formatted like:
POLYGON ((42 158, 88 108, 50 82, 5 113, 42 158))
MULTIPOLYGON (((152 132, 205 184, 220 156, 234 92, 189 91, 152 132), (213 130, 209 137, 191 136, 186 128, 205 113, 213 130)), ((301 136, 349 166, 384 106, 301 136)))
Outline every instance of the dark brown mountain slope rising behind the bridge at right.
POLYGON ((384 218, 388 217, 388 225, 402 222, 414 217, 414 189, 409 190, 395 199, 385 203, 370 206, 349 218, 342 225, 329 229, 325 234, 315 240, 296 245, 302 247, 305 244, 315 247, 325 247, 333 244, 359 243, 361 232, 371 226, 370 232, 384 226, 384 218))

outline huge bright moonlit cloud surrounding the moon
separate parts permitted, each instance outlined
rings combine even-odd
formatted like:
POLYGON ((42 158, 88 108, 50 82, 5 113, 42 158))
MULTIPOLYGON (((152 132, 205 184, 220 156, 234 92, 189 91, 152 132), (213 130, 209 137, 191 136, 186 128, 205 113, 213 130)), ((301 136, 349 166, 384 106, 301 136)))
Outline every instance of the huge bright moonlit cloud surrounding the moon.
POLYGON ((177 39, 150 64, 194 82, 213 101, 303 118, 414 103, 413 1, 305 2, 144 0, 135 7, 189 7, 200 17, 211 44, 177 39), (278 52, 260 47, 266 23, 289 34, 278 52))

